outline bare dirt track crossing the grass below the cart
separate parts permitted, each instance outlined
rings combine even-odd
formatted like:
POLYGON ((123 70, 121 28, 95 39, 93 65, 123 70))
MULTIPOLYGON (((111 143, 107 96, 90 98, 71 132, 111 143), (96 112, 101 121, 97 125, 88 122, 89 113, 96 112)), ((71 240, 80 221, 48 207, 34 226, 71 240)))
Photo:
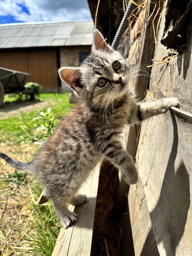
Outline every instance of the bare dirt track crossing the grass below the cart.
POLYGON ((15 117, 26 112, 46 108, 47 106, 51 106, 51 103, 51 100, 46 100, 43 102, 6 102, 0 108, 0 119, 15 117))

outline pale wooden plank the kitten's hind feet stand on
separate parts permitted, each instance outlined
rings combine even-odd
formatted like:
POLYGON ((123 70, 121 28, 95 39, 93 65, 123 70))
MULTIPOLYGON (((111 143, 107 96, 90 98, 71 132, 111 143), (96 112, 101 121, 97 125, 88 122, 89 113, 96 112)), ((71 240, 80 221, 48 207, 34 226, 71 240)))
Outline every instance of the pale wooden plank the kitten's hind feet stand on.
POLYGON ((60 231, 61 241, 52 256, 90 256, 99 171, 100 164, 91 172, 86 184, 81 188, 80 194, 86 194, 88 201, 74 208, 78 215, 77 221, 67 230, 66 235, 63 229, 60 231))

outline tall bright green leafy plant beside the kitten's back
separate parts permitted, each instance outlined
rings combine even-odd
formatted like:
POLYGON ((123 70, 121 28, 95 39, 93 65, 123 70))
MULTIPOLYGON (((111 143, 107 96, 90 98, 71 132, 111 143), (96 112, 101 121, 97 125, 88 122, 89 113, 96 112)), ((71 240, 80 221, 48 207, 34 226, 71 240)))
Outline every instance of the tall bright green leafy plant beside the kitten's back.
POLYGON ((33 119, 35 120, 43 120, 43 124, 41 124, 37 130, 43 130, 47 132, 47 137, 48 138, 52 133, 53 133, 53 128, 55 126, 54 124, 54 119, 53 119, 53 113, 51 112, 51 108, 44 109, 42 112, 39 113, 40 116, 36 117, 33 119))

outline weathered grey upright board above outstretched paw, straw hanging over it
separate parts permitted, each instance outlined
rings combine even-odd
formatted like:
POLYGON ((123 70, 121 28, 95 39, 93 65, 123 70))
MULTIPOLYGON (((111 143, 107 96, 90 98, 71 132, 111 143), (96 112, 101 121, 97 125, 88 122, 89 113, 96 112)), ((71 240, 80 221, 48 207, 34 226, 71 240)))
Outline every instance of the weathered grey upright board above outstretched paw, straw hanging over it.
MULTIPOLYGON (((168 54, 171 55, 171 52, 167 52, 166 47, 160 42, 164 35, 165 12, 166 8, 163 9, 157 37, 157 47, 155 49, 153 59, 161 60, 168 56, 168 54)), ((182 54, 178 54, 172 58, 170 68, 163 80, 159 94, 164 97, 178 97, 181 103, 181 108, 185 111, 192 112, 192 24, 190 24, 188 27, 188 39, 189 41, 186 46, 186 50, 182 54)), ((154 63, 157 63, 157 61, 154 63)), ((161 84, 166 68, 167 64, 160 64, 152 67, 149 90, 150 92, 153 92, 154 95, 156 95, 156 92, 161 84)))

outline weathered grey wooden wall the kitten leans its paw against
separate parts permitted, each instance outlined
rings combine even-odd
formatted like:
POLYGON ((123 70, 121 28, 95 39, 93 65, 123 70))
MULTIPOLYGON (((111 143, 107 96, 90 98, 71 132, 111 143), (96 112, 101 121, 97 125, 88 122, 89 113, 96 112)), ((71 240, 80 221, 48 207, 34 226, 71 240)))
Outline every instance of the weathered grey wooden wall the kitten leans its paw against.
MULTIPOLYGON (((147 1, 141 37, 132 40, 132 43, 130 43, 130 34, 123 39, 121 49, 132 65, 146 63, 150 65, 152 59, 162 60, 168 56, 166 47, 160 42, 164 36, 167 2, 163 8, 156 35, 156 45, 152 20, 162 1, 154 2, 147 1), (154 8, 155 4, 156 8, 154 8), (153 11, 154 9, 155 11, 153 11), (149 19, 151 14, 152 17, 149 19), (126 45, 129 47, 126 48, 126 45)), ((162 11, 161 7, 156 20, 154 20, 155 30, 159 14, 162 11)), ((180 110, 172 108, 165 115, 149 120, 146 129, 145 123, 141 126, 138 142, 139 146, 141 144, 138 158, 140 181, 137 185, 130 186, 128 194, 136 256, 192 255, 192 235, 190 233, 192 227, 192 206, 190 205, 192 198, 191 48, 192 24, 188 28, 188 44, 184 52, 172 56, 169 66, 168 63, 153 66, 149 80, 140 77, 133 81, 141 99, 144 98, 147 88, 155 97, 161 85, 158 98, 177 97, 181 103, 180 110), (141 140, 142 135, 144 135, 143 140, 141 140)), ((134 150, 136 152, 137 145, 132 141, 135 141, 137 129, 137 127, 129 129, 125 139, 127 150, 131 152, 132 156, 135 156, 134 150)), ((136 159, 137 156, 138 152, 136 159)), ((128 191, 123 182, 120 183, 119 191, 122 190, 122 187, 124 192, 128 191)), ((122 197, 121 194, 119 198, 122 199, 122 197)), ((125 248, 125 244, 123 244, 123 248, 125 248)), ((123 249, 122 255, 129 255, 129 253, 123 249)))

